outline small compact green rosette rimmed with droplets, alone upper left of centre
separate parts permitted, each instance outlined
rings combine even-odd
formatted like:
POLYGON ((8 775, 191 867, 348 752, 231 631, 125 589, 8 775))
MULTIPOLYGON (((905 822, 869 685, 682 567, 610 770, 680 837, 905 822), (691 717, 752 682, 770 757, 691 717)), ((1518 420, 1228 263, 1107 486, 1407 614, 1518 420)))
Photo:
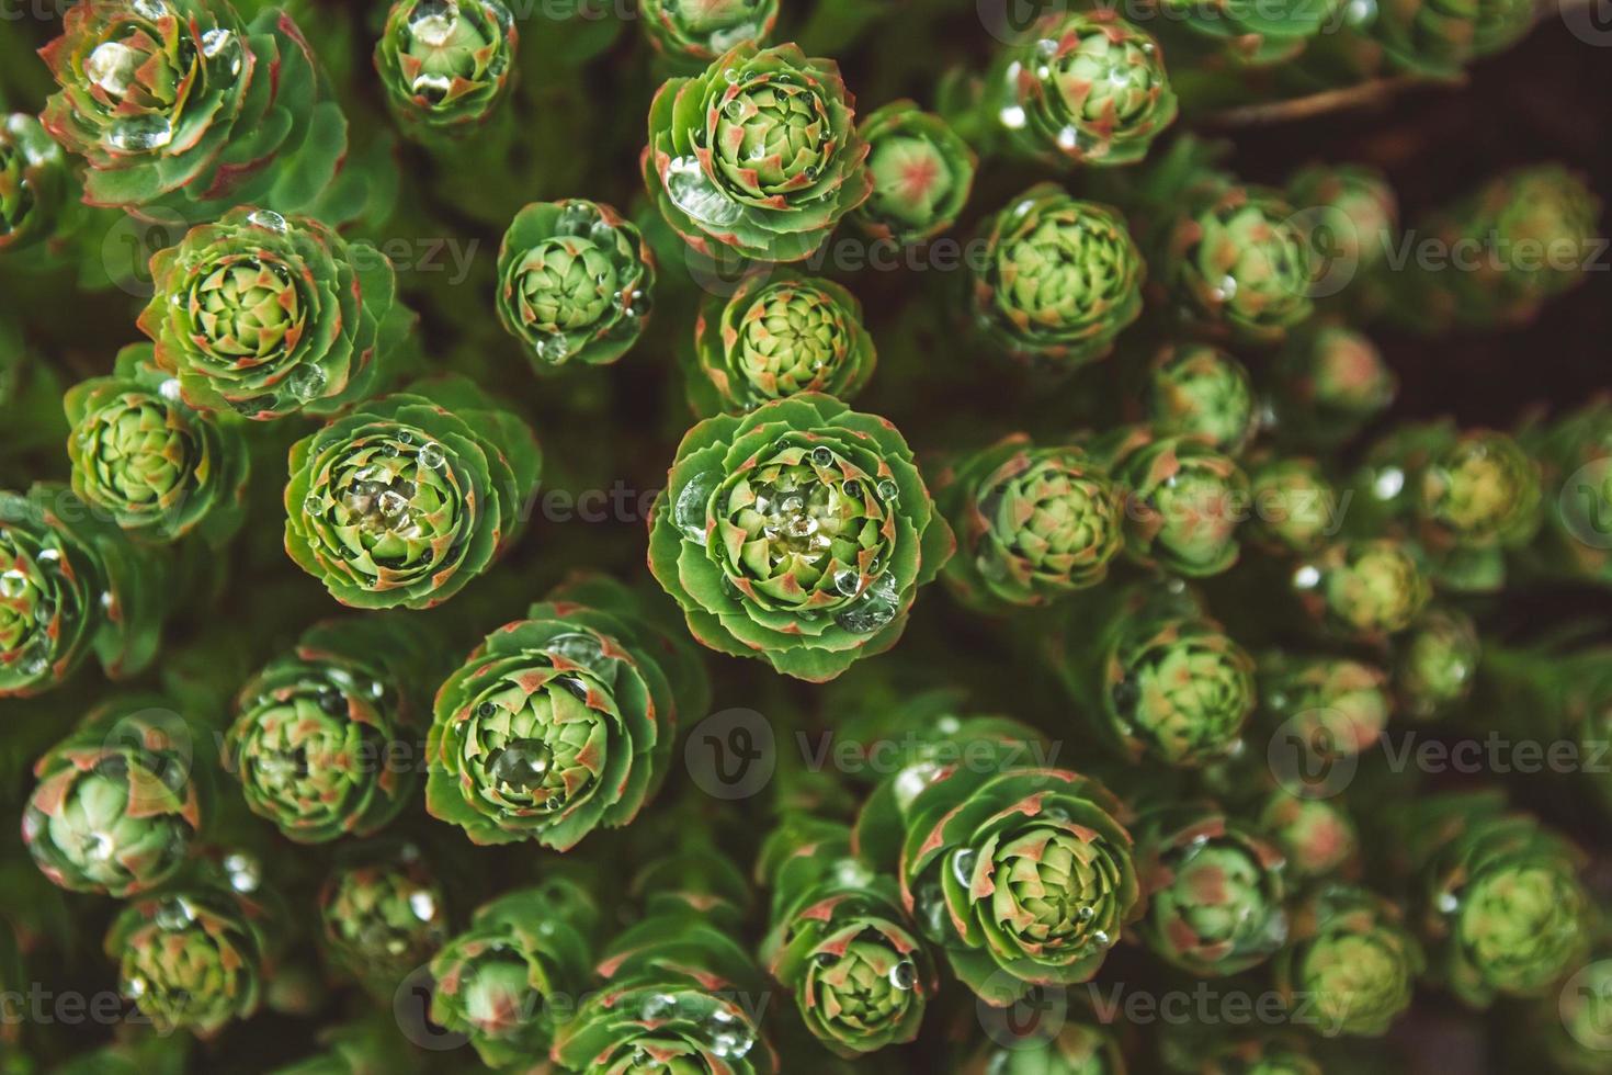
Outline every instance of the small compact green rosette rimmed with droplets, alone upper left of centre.
POLYGON ((653 290, 643 235, 596 201, 534 201, 498 247, 498 319, 538 374, 619 359, 643 334, 653 290))

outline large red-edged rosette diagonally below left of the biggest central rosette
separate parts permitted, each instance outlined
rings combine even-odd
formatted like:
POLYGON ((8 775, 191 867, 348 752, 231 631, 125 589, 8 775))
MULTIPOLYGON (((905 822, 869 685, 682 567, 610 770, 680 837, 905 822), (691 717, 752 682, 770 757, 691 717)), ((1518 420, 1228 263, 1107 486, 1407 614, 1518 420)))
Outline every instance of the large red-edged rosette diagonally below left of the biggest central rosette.
POLYGON ((476 843, 559 851, 629 824, 666 778, 693 650, 621 583, 582 579, 490 633, 437 693, 426 807, 476 843))

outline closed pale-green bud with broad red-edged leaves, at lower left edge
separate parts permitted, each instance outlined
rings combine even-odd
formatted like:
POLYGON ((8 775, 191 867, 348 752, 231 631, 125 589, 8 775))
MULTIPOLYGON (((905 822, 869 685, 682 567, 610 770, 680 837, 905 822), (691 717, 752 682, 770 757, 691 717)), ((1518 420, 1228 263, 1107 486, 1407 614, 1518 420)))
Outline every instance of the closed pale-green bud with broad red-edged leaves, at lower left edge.
POLYGON ((92 709, 34 766, 23 843, 40 872, 118 898, 171 878, 213 809, 205 737, 155 695, 92 709))

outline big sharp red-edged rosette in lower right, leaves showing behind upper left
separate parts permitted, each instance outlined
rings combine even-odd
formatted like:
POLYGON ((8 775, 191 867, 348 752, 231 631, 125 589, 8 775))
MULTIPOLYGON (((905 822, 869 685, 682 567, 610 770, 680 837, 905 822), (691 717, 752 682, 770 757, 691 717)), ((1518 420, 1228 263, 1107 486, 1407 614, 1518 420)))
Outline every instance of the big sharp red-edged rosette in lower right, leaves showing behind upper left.
POLYGON ((867 801, 859 853, 899 862, 903 906, 983 1002, 1088 982, 1141 914, 1119 801, 1022 741, 959 737, 967 764, 919 762, 867 801))

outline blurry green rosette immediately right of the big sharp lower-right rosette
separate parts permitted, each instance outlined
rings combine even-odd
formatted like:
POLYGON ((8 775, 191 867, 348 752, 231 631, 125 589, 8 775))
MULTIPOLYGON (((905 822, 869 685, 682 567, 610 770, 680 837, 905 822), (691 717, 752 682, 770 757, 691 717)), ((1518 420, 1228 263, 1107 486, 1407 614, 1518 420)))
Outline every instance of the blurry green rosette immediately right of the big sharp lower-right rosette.
POLYGON ((1204 803, 1146 811, 1135 830, 1148 901, 1136 933, 1159 959, 1219 978, 1286 943, 1286 861, 1275 846, 1204 803))

